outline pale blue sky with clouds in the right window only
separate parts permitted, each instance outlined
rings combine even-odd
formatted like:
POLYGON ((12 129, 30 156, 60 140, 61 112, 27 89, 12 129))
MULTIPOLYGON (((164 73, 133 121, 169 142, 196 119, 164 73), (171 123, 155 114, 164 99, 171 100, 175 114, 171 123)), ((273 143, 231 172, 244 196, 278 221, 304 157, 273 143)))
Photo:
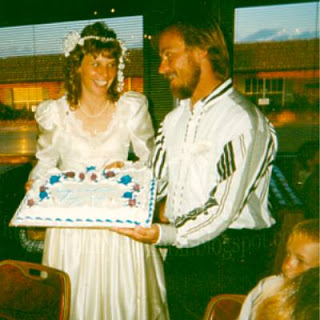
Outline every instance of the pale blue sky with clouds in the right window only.
POLYGON ((239 8, 235 42, 319 37, 319 3, 239 8))

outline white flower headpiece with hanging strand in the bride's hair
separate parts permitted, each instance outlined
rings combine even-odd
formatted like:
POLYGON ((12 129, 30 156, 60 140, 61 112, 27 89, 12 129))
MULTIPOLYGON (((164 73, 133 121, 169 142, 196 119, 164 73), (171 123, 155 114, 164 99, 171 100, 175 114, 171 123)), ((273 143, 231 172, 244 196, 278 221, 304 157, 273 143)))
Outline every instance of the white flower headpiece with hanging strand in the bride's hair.
POLYGON ((121 40, 115 39, 115 38, 105 38, 105 37, 99 37, 99 36, 85 36, 81 37, 81 35, 77 31, 70 32, 64 39, 63 42, 63 52, 65 57, 70 56, 70 52, 73 51, 77 45, 83 46, 85 40, 88 39, 95 39, 101 42, 118 42, 121 48, 121 55, 119 57, 119 64, 118 64, 118 87, 117 90, 121 92, 123 90, 124 86, 124 76, 123 76, 123 69, 125 67, 124 59, 127 52, 127 48, 123 44, 121 40))

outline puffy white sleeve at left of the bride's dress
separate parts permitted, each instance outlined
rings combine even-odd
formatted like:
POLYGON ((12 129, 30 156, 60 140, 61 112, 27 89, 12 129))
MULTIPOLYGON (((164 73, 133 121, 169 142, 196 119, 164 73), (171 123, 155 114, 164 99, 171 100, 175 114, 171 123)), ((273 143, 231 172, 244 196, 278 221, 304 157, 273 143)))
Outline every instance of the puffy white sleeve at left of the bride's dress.
POLYGON ((36 109, 35 119, 39 129, 36 146, 38 162, 29 175, 30 179, 41 178, 49 169, 57 166, 59 159, 55 146, 56 129, 59 126, 57 102, 48 100, 40 103, 36 109))

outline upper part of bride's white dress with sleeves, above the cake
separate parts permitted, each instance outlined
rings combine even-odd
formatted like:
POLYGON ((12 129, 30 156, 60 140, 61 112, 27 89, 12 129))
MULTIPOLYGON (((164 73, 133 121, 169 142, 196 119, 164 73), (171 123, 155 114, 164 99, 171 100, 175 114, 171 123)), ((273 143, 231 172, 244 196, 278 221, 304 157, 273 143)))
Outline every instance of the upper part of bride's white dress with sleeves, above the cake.
POLYGON ((126 92, 116 103, 116 111, 106 131, 92 135, 84 130, 70 111, 66 98, 41 103, 35 118, 39 125, 36 157, 31 179, 43 176, 50 168, 80 170, 97 168, 113 161, 127 160, 132 145, 141 161, 149 158, 154 130, 147 99, 137 92, 126 92))

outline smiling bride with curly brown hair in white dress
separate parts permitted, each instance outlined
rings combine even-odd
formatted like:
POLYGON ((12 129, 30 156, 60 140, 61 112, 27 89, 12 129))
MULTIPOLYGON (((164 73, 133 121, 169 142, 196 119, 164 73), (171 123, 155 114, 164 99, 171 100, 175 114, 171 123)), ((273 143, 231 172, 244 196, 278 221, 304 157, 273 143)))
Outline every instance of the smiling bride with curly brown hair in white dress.
MULTIPOLYGON (((66 95, 36 110, 37 165, 28 186, 49 169, 121 166, 132 146, 142 162, 154 131, 145 96, 123 89, 125 47, 101 22, 64 42, 66 95)), ((168 319, 162 257, 107 229, 48 228, 43 264, 71 279, 71 319, 168 319)))

